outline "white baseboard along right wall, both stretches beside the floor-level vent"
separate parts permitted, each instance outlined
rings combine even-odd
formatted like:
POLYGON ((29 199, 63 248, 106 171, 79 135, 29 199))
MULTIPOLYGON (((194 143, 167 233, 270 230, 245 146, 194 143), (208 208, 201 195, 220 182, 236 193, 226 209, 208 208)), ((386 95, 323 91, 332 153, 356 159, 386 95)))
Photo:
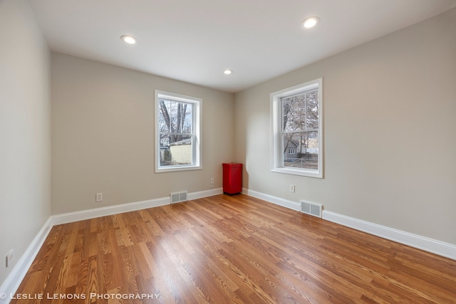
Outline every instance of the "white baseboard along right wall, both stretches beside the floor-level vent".
MULTIPOLYGON (((294 201, 288 201, 286 199, 281 199, 276 196, 271 196, 269 194, 264 194, 245 188, 242 189, 242 193, 256 197, 257 199, 269 201, 270 203, 277 204, 279 206, 284 206, 292 210, 301 211, 301 205, 294 201)), ((410 234, 409 232, 393 229, 387 226, 381 226, 369 221, 354 219, 352 217, 336 214, 331 211, 323 210, 322 215, 322 219, 325 219, 326 221, 333 221, 334 223, 348 226, 350 228, 363 231, 368 234, 373 234, 374 236, 380 236, 383 239, 396 241, 410 247, 418 248, 423 251, 435 253, 439 256, 445 256, 445 258, 456 260, 456 245, 454 244, 437 241, 435 239, 419 236, 417 234, 410 234)))

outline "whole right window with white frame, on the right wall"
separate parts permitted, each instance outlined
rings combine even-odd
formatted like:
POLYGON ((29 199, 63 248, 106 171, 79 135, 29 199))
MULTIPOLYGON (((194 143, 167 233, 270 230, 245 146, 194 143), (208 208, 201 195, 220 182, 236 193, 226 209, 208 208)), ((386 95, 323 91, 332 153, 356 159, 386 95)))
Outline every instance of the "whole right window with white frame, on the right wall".
POLYGON ((322 79, 271 93, 271 171, 323 177, 322 79))

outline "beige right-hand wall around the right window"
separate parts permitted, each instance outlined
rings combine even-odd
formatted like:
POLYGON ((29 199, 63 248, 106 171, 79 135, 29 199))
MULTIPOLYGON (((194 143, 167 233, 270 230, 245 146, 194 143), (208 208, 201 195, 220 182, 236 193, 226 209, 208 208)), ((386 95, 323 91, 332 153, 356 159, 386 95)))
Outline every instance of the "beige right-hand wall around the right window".
POLYGON ((453 9, 237 93, 244 187, 456 244, 455 33, 453 9), (269 93, 319 77, 324 179, 270 172, 269 93))

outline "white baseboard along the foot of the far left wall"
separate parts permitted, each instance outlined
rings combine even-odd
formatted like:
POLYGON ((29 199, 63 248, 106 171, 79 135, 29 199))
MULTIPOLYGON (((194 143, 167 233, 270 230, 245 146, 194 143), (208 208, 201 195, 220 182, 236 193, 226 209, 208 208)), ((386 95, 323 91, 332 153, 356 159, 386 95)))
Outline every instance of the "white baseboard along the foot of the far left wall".
POLYGON ((51 231, 52 227, 52 218, 49 217, 46 223, 44 223, 41 230, 38 231, 38 234, 36 234, 33 241, 31 241, 24 254, 21 256, 21 258, 19 258, 19 261, 17 261, 16 266, 14 266, 11 273, 9 273, 9 275, 6 277, 4 283, 1 284, 0 293, 5 293, 6 298, 0 298, 0 304, 6 304, 11 301, 10 296, 14 295, 17 288, 19 288, 19 285, 21 285, 22 280, 26 276, 28 268, 30 268, 31 263, 33 263, 33 260, 38 254, 38 251, 41 249, 41 246, 43 246, 44 240, 46 240, 46 237, 48 236, 49 231, 51 231))

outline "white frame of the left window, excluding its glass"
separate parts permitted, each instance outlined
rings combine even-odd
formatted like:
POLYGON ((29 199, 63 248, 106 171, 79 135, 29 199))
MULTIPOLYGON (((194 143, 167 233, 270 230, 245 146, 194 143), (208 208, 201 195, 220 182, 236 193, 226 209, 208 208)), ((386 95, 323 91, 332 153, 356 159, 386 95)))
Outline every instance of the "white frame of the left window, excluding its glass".
POLYGON ((201 98, 165 92, 162 90, 155 90, 155 173, 202 169, 201 108, 201 98), (182 103, 192 103, 192 124, 194 128, 194 145, 192 145, 192 164, 160 166, 160 103, 158 101, 159 99, 174 100, 182 103))

